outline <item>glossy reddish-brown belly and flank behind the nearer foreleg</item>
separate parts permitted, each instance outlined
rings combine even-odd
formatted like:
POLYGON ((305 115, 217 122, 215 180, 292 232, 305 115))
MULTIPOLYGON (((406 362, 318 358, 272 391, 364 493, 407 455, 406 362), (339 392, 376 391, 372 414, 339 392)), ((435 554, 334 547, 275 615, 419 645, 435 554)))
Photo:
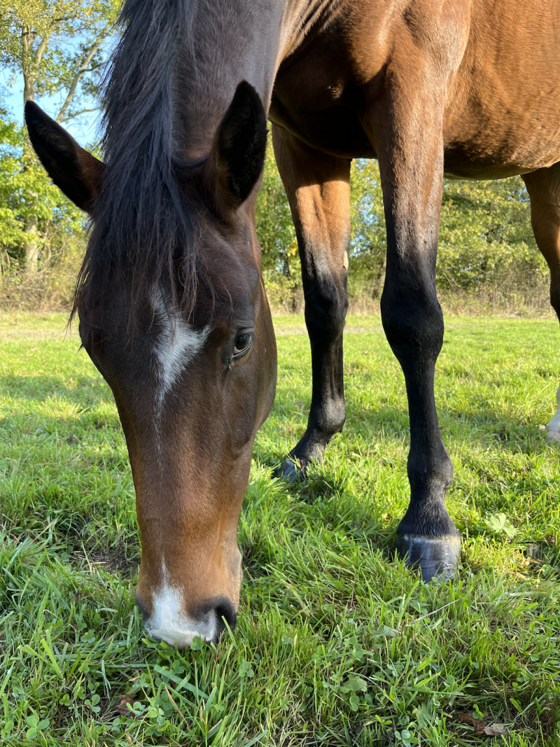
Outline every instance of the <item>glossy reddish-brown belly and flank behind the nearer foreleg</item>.
POLYGON ((500 178, 560 161, 560 5, 476 0, 449 87, 445 167, 500 178))

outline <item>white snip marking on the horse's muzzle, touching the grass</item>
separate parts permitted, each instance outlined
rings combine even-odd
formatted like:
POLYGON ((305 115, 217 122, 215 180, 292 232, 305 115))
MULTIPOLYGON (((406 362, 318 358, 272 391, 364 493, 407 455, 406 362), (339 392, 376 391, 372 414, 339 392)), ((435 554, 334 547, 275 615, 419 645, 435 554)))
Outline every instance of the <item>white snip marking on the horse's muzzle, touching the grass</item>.
POLYGON ((152 595, 153 612, 146 622, 146 630, 154 638, 165 641, 169 645, 190 646, 195 636, 202 640, 214 639, 217 627, 215 610, 211 610, 206 619, 196 622, 184 611, 183 594, 178 586, 169 582, 169 572, 165 561, 161 564, 163 583, 152 595))

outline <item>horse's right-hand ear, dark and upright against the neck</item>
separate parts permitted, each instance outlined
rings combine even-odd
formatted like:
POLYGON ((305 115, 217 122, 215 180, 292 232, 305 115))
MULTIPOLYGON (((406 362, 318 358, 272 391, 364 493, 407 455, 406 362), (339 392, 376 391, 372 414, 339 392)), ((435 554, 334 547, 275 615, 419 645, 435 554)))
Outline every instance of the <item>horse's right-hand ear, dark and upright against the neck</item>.
POLYGON ((237 209, 258 181, 267 149, 267 115, 261 98, 241 81, 217 129, 205 184, 218 208, 237 209))

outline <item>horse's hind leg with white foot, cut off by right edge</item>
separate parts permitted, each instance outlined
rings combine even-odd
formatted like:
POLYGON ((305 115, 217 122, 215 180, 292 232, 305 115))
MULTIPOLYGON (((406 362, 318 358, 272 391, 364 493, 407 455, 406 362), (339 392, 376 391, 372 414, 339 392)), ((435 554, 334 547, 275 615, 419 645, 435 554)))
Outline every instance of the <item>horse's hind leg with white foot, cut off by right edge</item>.
MULTIPOLYGON (((550 268, 550 303, 560 319, 560 164, 523 176, 531 199, 531 223, 538 248, 550 268)), ((556 413, 547 423, 547 441, 560 441, 560 387, 556 413)))

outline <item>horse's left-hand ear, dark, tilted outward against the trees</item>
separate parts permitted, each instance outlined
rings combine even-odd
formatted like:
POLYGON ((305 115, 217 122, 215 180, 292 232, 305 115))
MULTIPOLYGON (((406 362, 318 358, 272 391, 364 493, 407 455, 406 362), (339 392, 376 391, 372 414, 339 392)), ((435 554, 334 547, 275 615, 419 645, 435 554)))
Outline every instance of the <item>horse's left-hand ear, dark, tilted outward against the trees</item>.
POLYGON ((84 150, 33 101, 25 103, 29 139, 52 181, 78 208, 90 212, 105 164, 84 150))

